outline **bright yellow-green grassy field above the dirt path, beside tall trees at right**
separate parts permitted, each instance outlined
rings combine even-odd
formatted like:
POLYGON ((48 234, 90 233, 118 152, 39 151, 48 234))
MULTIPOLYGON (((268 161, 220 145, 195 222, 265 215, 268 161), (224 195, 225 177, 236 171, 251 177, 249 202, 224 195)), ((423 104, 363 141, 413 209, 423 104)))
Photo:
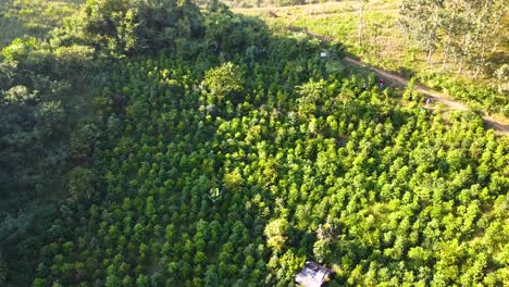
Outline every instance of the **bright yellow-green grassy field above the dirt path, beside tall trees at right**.
MULTIPOLYGON (((414 76, 422 84, 444 91, 451 98, 469 103, 474 110, 497 118, 507 120, 509 116, 509 84, 502 83, 502 89, 498 89, 500 80, 492 75, 482 75, 474 79, 473 71, 458 74, 454 66, 444 67, 439 49, 433 54, 431 63, 427 63, 427 54, 420 51, 398 26, 398 1, 373 0, 364 4, 360 46, 358 1, 234 11, 259 16, 272 27, 301 29, 328 40, 338 40, 351 57, 360 59, 363 63, 408 78, 414 76)), ((506 63, 509 55, 507 34, 509 30, 506 29, 506 33, 500 35, 501 45, 494 53, 498 55, 499 61, 506 63)))

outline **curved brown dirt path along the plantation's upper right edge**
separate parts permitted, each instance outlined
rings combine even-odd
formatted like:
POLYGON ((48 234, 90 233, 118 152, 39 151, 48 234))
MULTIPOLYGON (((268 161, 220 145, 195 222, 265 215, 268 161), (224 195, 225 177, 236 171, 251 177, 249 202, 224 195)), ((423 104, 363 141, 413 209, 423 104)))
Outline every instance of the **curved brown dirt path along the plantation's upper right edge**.
MULTIPOLYGON (((362 64, 361 62, 359 62, 359 61, 357 61, 355 59, 351 59, 349 57, 345 57, 344 61, 348 62, 350 64, 353 64, 356 66, 368 67, 371 71, 375 72, 376 74, 383 76, 386 79, 390 79, 393 83, 395 83, 395 84, 397 84, 399 86, 407 86, 407 84, 408 84, 408 80, 406 78, 402 78, 402 77, 400 77, 398 75, 385 72, 385 71, 376 68, 376 67, 367 66, 367 65, 362 64)), ((426 88, 426 87, 418 85, 418 84, 415 84, 414 87, 415 87, 415 90, 418 92, 421 92, 421 93, 432 98, 433 101, 443 103, 443 104, 449 107, 452 110, 456 110, 456 111, 468 111, 469 110, 469 108, 467 105, 464 105, 464 104, 462 104, 460 102, 447 99, 447 97, 442 92, 432 90, 430 88, 426 88)), ((484 118, 484 121, 486 122, 486 124, 489 127, 498 130, 500 134, 509 136, 509 124, 500 123, 500 122, 494 120, 492 116, 488 116, 488 115, 483 116, 483 118, 484 118)))

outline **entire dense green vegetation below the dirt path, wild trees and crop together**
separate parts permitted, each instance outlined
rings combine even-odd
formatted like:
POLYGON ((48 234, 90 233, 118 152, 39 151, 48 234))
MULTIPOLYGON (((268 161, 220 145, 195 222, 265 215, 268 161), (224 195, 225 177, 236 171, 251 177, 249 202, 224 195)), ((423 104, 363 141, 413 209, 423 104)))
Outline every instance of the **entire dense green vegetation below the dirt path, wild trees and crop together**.
POLYGON ((0 286, 509 282, 509 137, 479 114, 216 1, 54 25, 1 53, 0 286))

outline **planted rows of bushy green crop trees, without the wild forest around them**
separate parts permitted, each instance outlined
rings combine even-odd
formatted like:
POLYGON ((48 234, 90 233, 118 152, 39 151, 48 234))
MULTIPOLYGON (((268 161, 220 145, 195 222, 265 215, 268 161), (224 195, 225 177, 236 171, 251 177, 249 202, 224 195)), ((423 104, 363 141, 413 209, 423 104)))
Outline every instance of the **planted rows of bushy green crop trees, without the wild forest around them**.
POLYGON ((300 41, 252 65, 117 64, 102 97, 125 105, 102 107, 78 167, 102 200, 55 223, 35 283, 286 286, 314 259, 333 285, 501 284, 507 139, 326 73, 300 41))

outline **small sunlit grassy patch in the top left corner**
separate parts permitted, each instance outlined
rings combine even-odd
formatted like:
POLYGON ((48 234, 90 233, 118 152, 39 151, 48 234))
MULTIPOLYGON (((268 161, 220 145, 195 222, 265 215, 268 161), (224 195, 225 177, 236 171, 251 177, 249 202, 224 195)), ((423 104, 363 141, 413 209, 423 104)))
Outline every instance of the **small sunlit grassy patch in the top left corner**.
POLYGON ((0 1, 0 48, 22 36, 44 37, 72 15, 84 0, 0 1))

